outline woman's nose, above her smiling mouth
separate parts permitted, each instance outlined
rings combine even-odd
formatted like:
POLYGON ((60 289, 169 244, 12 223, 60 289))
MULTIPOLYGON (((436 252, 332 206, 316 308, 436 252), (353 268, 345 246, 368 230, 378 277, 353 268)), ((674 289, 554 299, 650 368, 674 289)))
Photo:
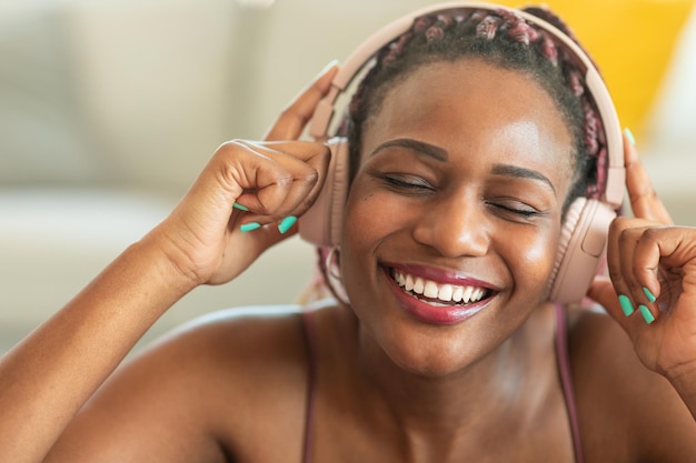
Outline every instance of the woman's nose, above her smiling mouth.
MULTIPOLYGON (((485 204, 471 193, 453 192, 424 208, 414 239, 443 256, 481 256, 490 244, 490 223, 485 204)), ((514 239, 510 236, 510 239, 514 239)))

